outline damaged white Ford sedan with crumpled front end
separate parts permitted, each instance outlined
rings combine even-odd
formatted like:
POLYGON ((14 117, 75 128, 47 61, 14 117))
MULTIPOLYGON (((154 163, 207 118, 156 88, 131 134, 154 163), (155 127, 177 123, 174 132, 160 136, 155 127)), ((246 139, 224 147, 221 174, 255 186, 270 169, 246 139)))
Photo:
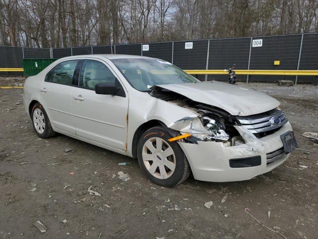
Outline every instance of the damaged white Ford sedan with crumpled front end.
POLYGON ((175 186, 247 180, 297 146, 279 102, 169 62, 131 55, 61 58, 24 85, 37 135, 56 132, 138 158, 147 177, 175 186))

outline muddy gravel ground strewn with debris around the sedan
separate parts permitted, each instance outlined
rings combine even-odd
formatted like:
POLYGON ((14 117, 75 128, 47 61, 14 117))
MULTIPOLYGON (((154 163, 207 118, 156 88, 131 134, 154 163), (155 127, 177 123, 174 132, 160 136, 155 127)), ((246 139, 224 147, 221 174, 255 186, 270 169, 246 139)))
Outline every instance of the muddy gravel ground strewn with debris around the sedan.
POLYGON ((311 93, 301 95, 300 85, 295 97, 292 88, 240 85, 273 88, 303 150, 248 181, 190 177, 175 188, 152 184, 127 156, 61 134, 39 138, 23 109, 23 89, 0 89, 0 238, 317 239, 318 144, 301 134, 317 132, 318 87, 305 86, 311 93), (131 179, 121 181, 118 171, 131 179), (90 186, 101 196, 88 194, 90 186), (204 206, 209 201, 210 209, 204 206), (36 221, 46 233, 33 226, 36 221))

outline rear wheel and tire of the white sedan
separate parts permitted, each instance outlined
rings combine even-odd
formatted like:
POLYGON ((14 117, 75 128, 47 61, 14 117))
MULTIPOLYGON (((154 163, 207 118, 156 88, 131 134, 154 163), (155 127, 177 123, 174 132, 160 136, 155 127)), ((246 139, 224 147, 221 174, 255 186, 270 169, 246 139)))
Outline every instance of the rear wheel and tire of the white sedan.
POLYGON ((33 106, 31 119, 34 131, 41 138, 50 138, 56 135, 56 132, 52 129, 50 119, 40 103, 33 106))

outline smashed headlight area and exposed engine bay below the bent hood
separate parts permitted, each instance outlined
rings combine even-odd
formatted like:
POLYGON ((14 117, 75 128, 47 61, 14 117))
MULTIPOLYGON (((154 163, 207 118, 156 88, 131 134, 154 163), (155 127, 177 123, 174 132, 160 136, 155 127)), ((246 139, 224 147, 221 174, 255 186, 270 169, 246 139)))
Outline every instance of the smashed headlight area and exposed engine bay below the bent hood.
POLYGON ((168 128, 187 135, 182 140, 195 143, 197 141, 229 142, 230 145, 244 143, 238 130, 236 119, 226 111, 194 102, 180 94, 156 87, 151 95, 179 107, 190 110, 196 117, 184 117, 167 125, 168 128), (190 136, 189 136, 190 135, 190 136))

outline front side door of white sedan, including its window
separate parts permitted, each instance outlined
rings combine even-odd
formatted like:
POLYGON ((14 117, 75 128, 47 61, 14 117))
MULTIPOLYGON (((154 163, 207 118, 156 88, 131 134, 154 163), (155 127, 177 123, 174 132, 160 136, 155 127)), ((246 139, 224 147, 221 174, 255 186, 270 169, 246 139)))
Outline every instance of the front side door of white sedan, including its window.
POLYGON ((84 60, 79 87, 72 92, 76 134, 104 145, 126 151, 128 95, 98 95, 97 83, 118 81, 103 62, 84 60))

